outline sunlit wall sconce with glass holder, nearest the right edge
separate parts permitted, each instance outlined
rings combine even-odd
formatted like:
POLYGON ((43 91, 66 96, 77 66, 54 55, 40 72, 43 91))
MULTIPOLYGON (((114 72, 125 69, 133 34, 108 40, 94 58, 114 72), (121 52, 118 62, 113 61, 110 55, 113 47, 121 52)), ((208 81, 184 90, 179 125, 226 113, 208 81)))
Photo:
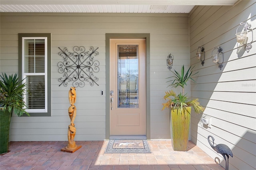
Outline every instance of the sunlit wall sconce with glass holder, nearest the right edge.
POLYGON ((247 33, 250 31, 253 33, 252 29, 250 29, 252 25, 249 24, 248 22, 246 22, 246 24, 241 22, 240 26, 238 26, 238 28, 236 29, 236 42, 240 43, 240 46, 245 45, 244 49, 247 52, 249 52, 250 49, 252 48, 253 35, 252 35, 252 41, 250 43, 247 43, 247 41, 248 41, 247 33), (240 26, 244 26, 243 31, 237 32, 237 30, 240 26))

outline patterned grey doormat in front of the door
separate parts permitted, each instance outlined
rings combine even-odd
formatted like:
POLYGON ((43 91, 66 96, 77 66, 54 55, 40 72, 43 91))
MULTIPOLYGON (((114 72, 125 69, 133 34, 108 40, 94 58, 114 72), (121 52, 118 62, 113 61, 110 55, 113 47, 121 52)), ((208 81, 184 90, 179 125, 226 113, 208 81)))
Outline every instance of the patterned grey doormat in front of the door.
POLYGON ((151 153, 147 140, 109 140, 105 153, 151 153))

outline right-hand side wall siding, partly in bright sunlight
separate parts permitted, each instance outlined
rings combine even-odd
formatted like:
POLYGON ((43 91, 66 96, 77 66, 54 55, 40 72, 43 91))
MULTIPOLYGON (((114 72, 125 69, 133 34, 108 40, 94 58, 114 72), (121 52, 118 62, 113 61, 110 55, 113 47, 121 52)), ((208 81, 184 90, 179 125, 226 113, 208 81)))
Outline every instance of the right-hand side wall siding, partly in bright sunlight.
MULTIPOLYGON (((211 117, 212 128, 202 125, 202 115, 192 114, 191 136, 204 152, 220 158, 207 141, 228 145, 234 157, 230 169, 256 167, 256 2, 240 1, 234 6, 196 6, 190 12, 190 63, 199 71, 191 84, 191 96, 198 97, 206 107, 204 115, 211 117), (236 29, 240 22, 248 22, 253 29, 252 49, 237 54, 236 29), (198 46, 205 48, 205 64, 196 58, 198 46), (214 47, 222 47, 223 68, 211 59, 214 47)), ((242 29, 242 27, 240 27, 242 29)), ((252 34, 248 33, 248 42, 252 34)), ((220 62, 222 56, 220 55, 220 62)))

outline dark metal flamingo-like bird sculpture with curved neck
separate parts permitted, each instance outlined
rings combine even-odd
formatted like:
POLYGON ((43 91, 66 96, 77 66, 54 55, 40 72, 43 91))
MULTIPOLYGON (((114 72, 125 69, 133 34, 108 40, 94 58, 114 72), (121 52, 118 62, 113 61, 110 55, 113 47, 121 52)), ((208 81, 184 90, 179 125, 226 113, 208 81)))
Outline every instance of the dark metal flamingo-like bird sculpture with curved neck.
POLYGON ((214 137, 212 136, 208 136, 208 142, 210 144, 210 146, 213 148, 213 150, 215 150, 217 153, 222 154, 222 156, 224 157, 225 161, 226 161, 226 170, 227 169, 227 160, 226 160, 226 156, 229 158, 229 155, 231 157, 233 157, 233 153, 231 151, 231 149, 226 145, 226 144, 217 144, 216 146, 214 146, 214 137), (210 141, 210 137, 212 138, 212 143, 210 141))

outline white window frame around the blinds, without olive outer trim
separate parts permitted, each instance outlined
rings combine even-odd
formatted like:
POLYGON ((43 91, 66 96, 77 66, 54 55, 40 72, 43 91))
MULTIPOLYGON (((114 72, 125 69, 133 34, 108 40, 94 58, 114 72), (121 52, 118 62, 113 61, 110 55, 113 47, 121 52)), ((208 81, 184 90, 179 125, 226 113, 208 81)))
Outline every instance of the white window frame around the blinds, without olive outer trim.
MULTIPOLYGON (((23 82, 22 83, 26 83, 26 76, 29 76, 29 75, 44 75, 44 103, 45 103, 45 107, 44 109, 26 109, 26 112, 28 113, 47 113, 48 112, 48 90, 47 90, 47 86, 48 86, 48 83, 47 83, 47 37, 22 37, 22 80, 23 82), (45 51, 44 51, 44 73, 25 73, 24 71, 24 54, 25 54, 25 50, 24 50, 24 41, 25 40, 44 40, 44 45, 45 45, 45 51)), ((26 102, 27 100, 27 95, 24 96, 24 101, 26 102)))

